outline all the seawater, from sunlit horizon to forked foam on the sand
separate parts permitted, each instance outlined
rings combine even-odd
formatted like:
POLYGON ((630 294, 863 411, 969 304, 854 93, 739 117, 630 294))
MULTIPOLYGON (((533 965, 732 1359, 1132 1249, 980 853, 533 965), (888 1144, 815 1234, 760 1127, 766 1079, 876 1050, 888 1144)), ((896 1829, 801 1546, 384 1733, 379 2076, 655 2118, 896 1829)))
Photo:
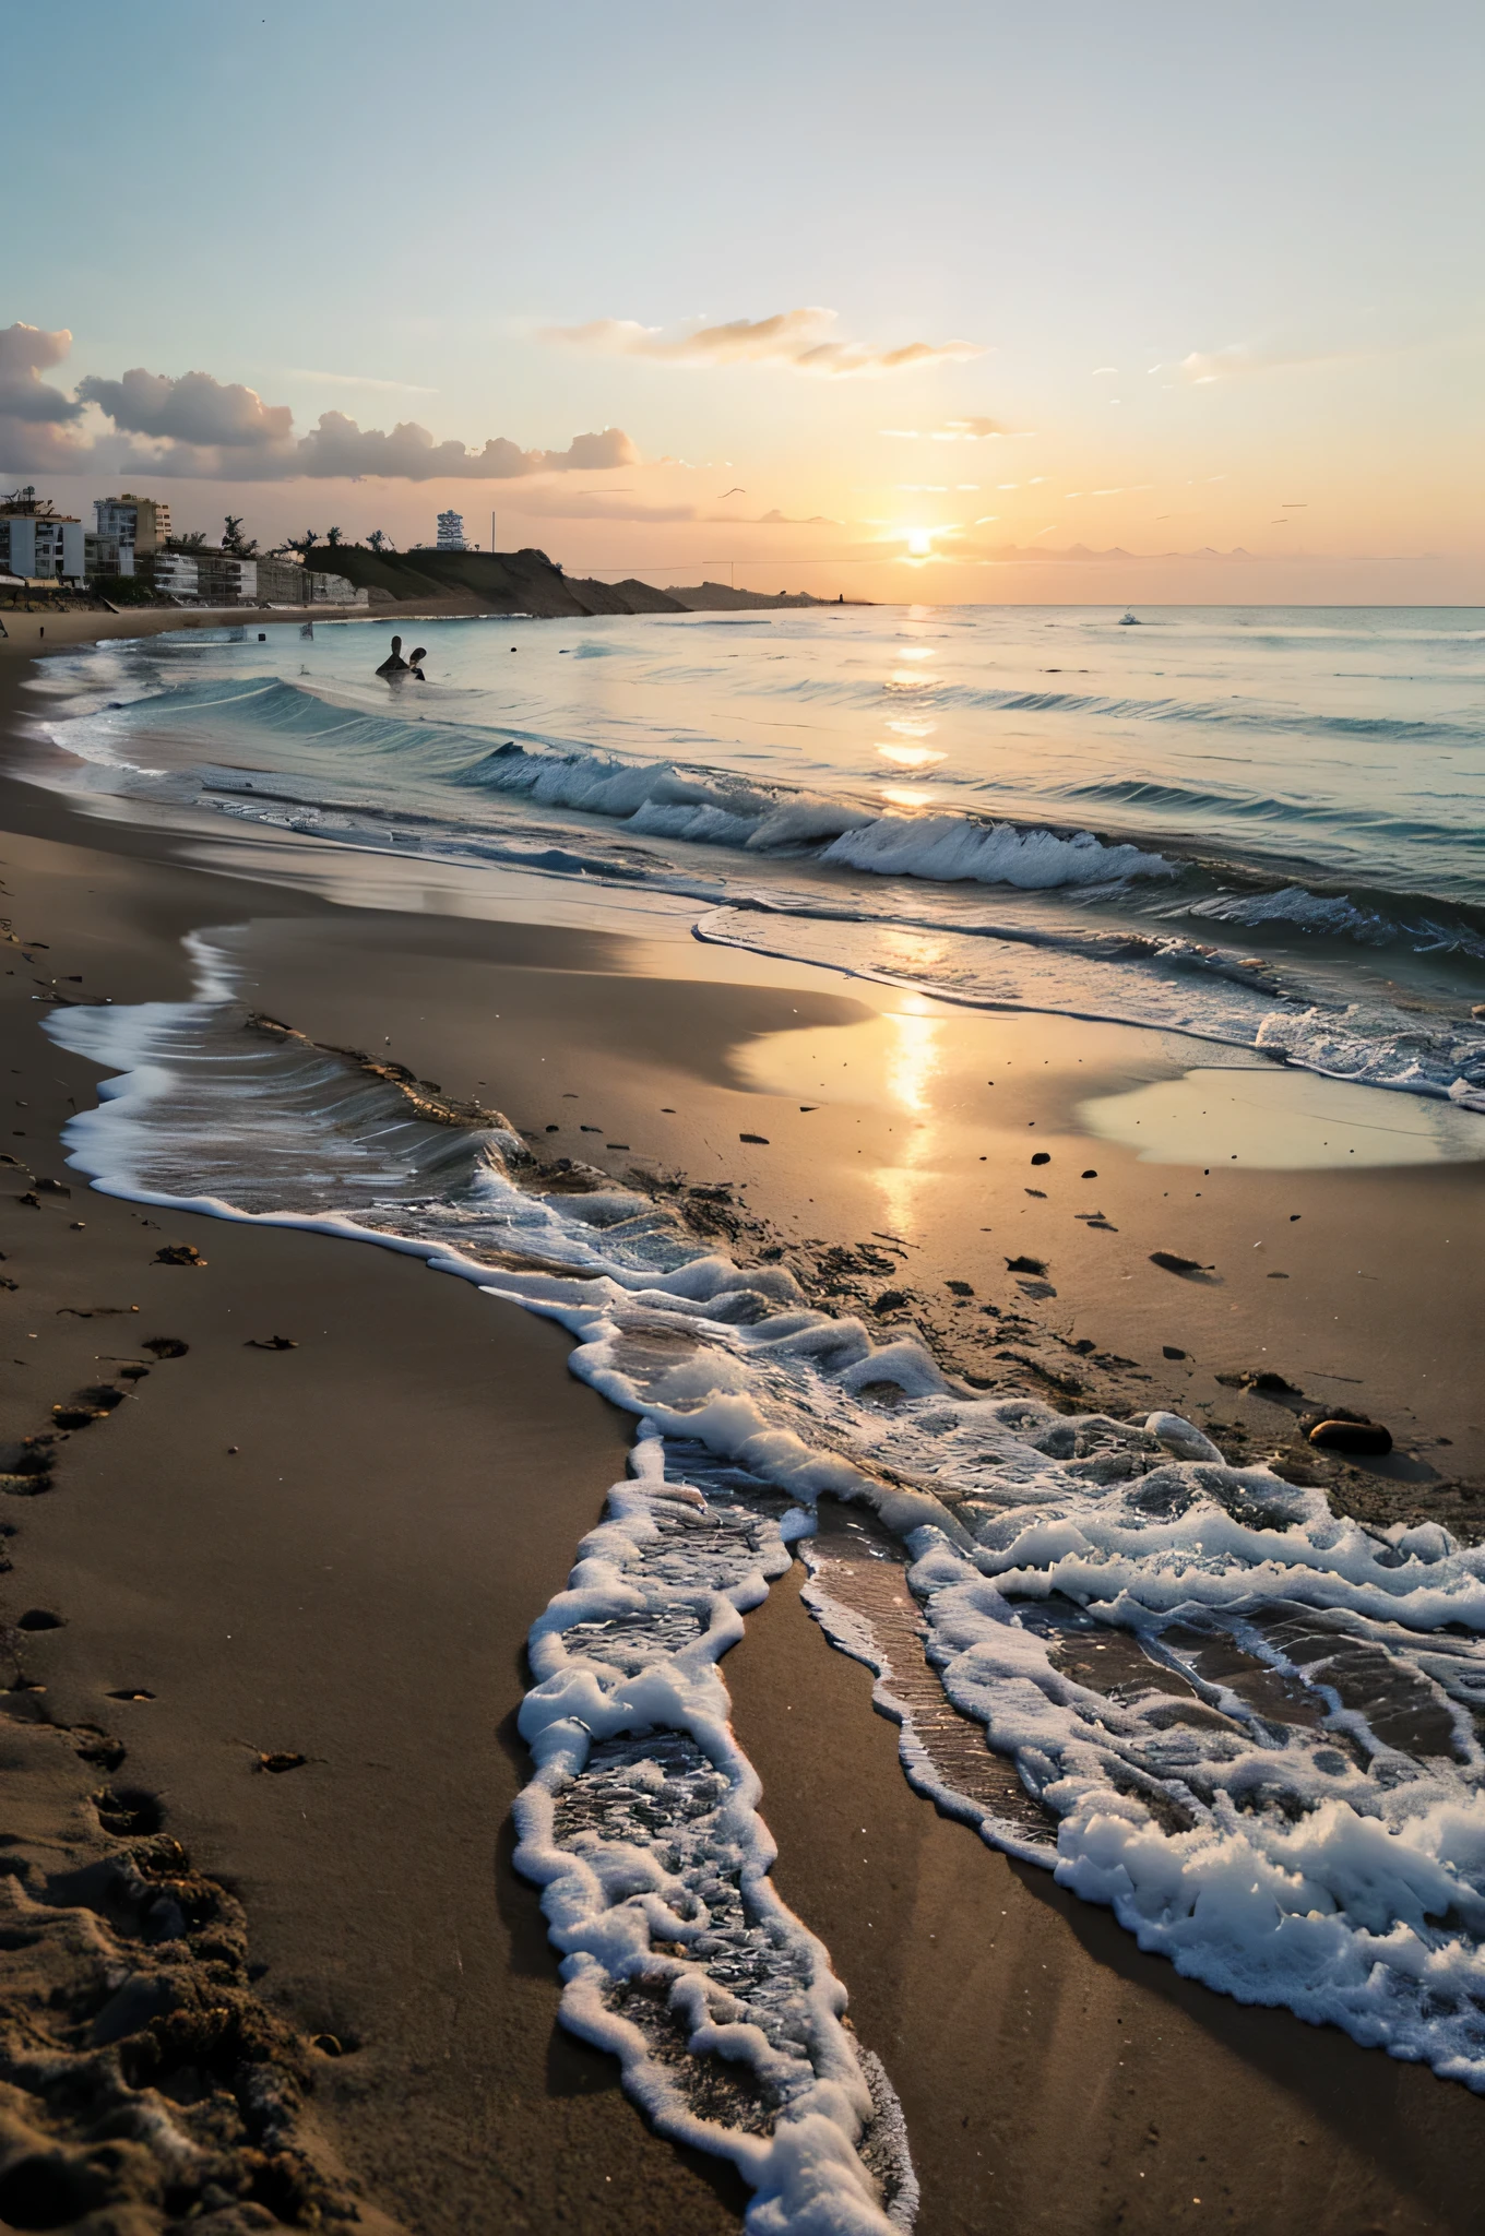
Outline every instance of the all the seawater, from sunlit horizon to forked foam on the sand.
MULTIPOLYGON (((443 622, 416 631, 429 682, 396 691, 369 673, 380 631, 268 624, 49 664, 38 774, 136 816, 519 868, 619 912, 664 894, 700 939, 962 1004, 1266 1051, 1447 1109, 1474 1129, 1454 1154, 1478 1156, 1478 619, 443 622)), ((769 2225, 814 2225, 830 2151, 801 2142, 789 2171, 756 2131, 718 2142, 687 2062, 617 2012, 660 1965, 789 2133, 836 2117, 832 2088, 848 2129, 892 2129, 825 1952, 767 1885, 727 1731, 718 1659, 794 1541, 942 1809, 1183 1974, 1485 2091, 1485 1547, 1337 1516, 1165 1411, 968 1386, 664 1198, 548 1187, 512 1131, 450 1129, 335 1051, 244 1033, 233 937, 192 953, 192 1002, 47 1017, 110 1073, 72 1165, 139 1203, 423 1257, 557 1319, 573 1371, 637 1420, 631 1485, 532 1610, 519 1860, 570 2024, 626 2057, 666 2131, 783 2200, 769 2225), (906 1574, 921 1646, 823 1556, 821 1496, 870 1518, 861 1574, 906 1574), (1123 1659, 1091 1677, 1100 1650, 1123 1659), (944 1753, 924 1655, 1000 1784, 944 1753)), ((906 2227, 906 2142, 892 2164, 906 2227)))

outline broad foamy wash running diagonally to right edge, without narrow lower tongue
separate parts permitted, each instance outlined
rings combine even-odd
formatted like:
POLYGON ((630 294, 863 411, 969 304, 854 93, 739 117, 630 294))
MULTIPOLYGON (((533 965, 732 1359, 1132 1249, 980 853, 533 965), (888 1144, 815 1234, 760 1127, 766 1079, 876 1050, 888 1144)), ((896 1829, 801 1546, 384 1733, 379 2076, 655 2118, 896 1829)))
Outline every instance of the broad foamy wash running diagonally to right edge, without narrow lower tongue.
MULTIPOLYGON (((810 1308, 778 1266, 698 1254, 671 1214, 624 1190, 541 1198, 481 1169, 465 1172, 456 1198, 423 1185, 412 1201, 427 1143, 403 1120, 391 1131, 414 1138, 385 1183, 394 1196, 403 1187, 398 1214, 472 1225, 503 1259, 548 1270, 492 1268, 447 1234, 387 1234, 344 1212, 244 1212, 145 1185, 150 1158, 174 1172, 208 1154, 212 1098, 239 1114, 224 1138, 244 1187, 264 1185, 255 1154, 277 1169, 275 1093, 311 1149, 315 1114, 331 1114, 335 1156, 320 1156, 331 1176, 349 1138, 333 1114, 389 1131, 360 1087, 347 1105, 322 1051, 306 1051, 295 1105, 293 1064, 244 1053, 239 1022, 208 1004, 51 1013, 65 1046, 132 1067, 69 1122, 72 1163, 132 1201, 420 1257, 557 1319, 577 1337, 573 1371, 662 1433, 805 1505, 834 1494, 872 1507, 915 1556, 908 1585, 948 1699, 1058 1822, 1062 1885, 1109 1903, 1143 1948, 1239 2001, 1326 2019, 1485 2093, 1485 1547, 1436 1523, 1366 1529, 1320 1489, 1228 1467, 1176 1415, 1060 1415, 955 1389, 919 1344, 877 1346, 861 1321, 810 1308), (228 1038, 212 1040, 221 1026, 228 1038), (877 1402, 883 1384, 897 1389, 892 1404, 877 1402), (1311 1711, 1297 1722, 1275 1711, 1275 1722, 1235 1693, 1201 1690, 1199 1677, 1179 1688, 1174 1715, 1154 1675, 1094 1690, 1058 1659, 1069 1623, 1120 1637, 1132 1666, 1152 1673, 1181 1661, 1183 1648, 1163 1643, 1176 1623, 1176 1639, 1288 1670, 1311 1711), (1331 1670, 1344 1657, 1369 1690, 1353 1677, 1346 1693, 1331 1670), (1192 1690, 1214 1715, 1185 1713, 1192 1690)), ((297 1165, 297 1136, 293 1147, 297 1165)), ((396 1165, 391 1149, 385 1163, 396 1165)), ((982 1831, 1009 1845, 989 1818, 982 1831)))

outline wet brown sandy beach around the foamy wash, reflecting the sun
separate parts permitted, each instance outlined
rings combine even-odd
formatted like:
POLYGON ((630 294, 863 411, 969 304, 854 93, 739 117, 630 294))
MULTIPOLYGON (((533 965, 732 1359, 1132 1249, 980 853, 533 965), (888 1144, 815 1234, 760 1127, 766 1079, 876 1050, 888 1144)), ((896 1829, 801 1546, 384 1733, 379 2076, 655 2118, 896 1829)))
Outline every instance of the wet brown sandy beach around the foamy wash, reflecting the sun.
MULTIPOLYGON (((9 724, 31 646, 11 631, 0 653, 9 724)), ((116 2167, 119 2129, 36 2082, 45 1999, 16 1961, 4 2021, 36 2055, 11 2048, 0 2111, 76 2209, 27 2220, 40 2207, 7 2202, 0 2176, 11 2225, 132 2236, 188 2202, 221 2232, 313 2209, 414 2236, 700 2236, 747 2202, 720 2160, 655 2140, 613 2059, 557 2026, 557 1959, 510 1865, 523 1639, 633 1422, 568 1375, 559 1328, 416 1261, 148 1212, 69 1172, 58 1134, 98 1069, 38 1017, 56 997, 186 997, 188 932, 230 930, 271 1017, 490 1096, 541 1156, 725 1185, 736 1248, 796 1263, 843 1313, 912 1324, 980 1386, 1167 1406, 1230 1456, 1308 1467, 1335 1512, 1485 1534, 1478 1167, 1248 1160, 1302 1122, 1275 1067, 1221 1076, 1243 1140, 1223 1167, 1143 1163, 1087 1105, 1158 1100, 1192 1064, 1176 1035, 955 1011, 689 932, 541 923, 526 901, 503 917, 496 879, 483 915, 441 906, 434 881, 418 912, 335 903, 297 841, 145 830, 13 778, 0 816, 11 1950, 51 1910, 94 1914, 78 1874, 123 1836, 89 1796, 143 1796, 141 1836, 181 1842, 242 1905, 230 1992, 300 2059, 277 2124, 242 2111, 215 2187, 186 2198, 139 2120, 116 2167), (159 1263, 174 1243, 206 1263, 159 1263), (1042 1263, 1042 1292, 1018 1286, 1018 1257, 1042 1263), (259 1348, 275 1335, 293 1348, 259 1348), (188 1348, 148 1348, 170 1342, 188 1348), (89 1406, 87 1389, 123 1395, 89 1406), (1299 1433, 1317 1402, 1389 1422, 1398 1449, 1317 1460, 1299 1433), (58 1431, 56 1406, 98 1418, 58 1431), (63 1440, 25 1444, 47 1433, 63 1440), (29 1478, 27 1451, 45 1458, 29 1478), (284 1755, 304 1760, 264 1769, 284 1755), (286 2153, 315 2169, 313 2207, 264 2173, 286 2153)), ((1107 1910, 935 1813, 801 1581, 796 1563, 774 1583, 722 1675, 776 1885, 901 2097, 921 2236, 1474 2227, 1476 2095, 1183 1981, 1107 1910)), ((206 1999, 212 1963, 181 1959, 206 1999)), ((96 1983, 69 1992, 81 2055, 96 1983)), ((161 2082, 181 2106, 204 2095, 192 2055, 161 2082)))

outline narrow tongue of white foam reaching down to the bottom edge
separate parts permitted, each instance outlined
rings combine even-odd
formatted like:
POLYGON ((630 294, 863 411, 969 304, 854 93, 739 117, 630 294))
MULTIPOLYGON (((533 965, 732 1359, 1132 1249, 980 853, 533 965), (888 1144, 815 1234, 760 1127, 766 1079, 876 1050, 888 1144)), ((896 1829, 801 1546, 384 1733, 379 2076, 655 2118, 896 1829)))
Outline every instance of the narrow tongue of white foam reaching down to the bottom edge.
POLYGON ((570 1588, 532 1626, 537 1684, 519 1719, 537 1771, 517 1802, 514 1860, 541 1885, 564 1954, 564 2024, 619 2059, 624 2086, 662 2135, 731 2158, 756 2191, 747 2216, 756 2236, 908 2229, 917 2182, 897 2100, 881 2104, 897 2142, 883 2214, 857 2156, 879 2104, 841 2026, 845 1990, 769 1878, 778 1851, 758 1813, 763 1784, 731 1731, 718 1670, 742 1614, 787 1570, 787 1545, 776 1523, 738 1527, 693 1487, 666 1482, 653 1422, 640 1424, 631 1469, 637 1480, 608 1491, 570 1588), (698 1623, 689 1643, 635 1652, 635 1630, 678 1617, 698 1623), (606 1626, 619 1632, 617 1650, 606 1626), (640 1668, 626 1670, 635 1659, 640 1668), (678 1764, 658 1733, 691 1740, 693 1762, 716 1775, 678 1764), (617 1775, 588 1778, 597 1825, 579 1820, 564 1838, 561 1804, 588 1798, 595 1746, 628 1735, 637 1744, 617 1775), (662 2024, 691 2057, 747 2068, 772 2104, 772 2133, 698 2115, 673 2057, 658 2055, 662 2024))

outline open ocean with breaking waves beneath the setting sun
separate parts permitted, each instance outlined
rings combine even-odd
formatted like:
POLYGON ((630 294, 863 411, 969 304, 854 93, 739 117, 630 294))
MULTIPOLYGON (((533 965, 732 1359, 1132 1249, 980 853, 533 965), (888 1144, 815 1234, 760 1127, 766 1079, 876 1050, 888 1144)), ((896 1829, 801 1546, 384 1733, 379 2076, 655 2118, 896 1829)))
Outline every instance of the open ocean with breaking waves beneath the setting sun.
POLYGON ((56 780, 1485 1107, 1476 610, 360 624, 51 662, 56 780), (409 624, 412 626, 412 624, 409 624))

